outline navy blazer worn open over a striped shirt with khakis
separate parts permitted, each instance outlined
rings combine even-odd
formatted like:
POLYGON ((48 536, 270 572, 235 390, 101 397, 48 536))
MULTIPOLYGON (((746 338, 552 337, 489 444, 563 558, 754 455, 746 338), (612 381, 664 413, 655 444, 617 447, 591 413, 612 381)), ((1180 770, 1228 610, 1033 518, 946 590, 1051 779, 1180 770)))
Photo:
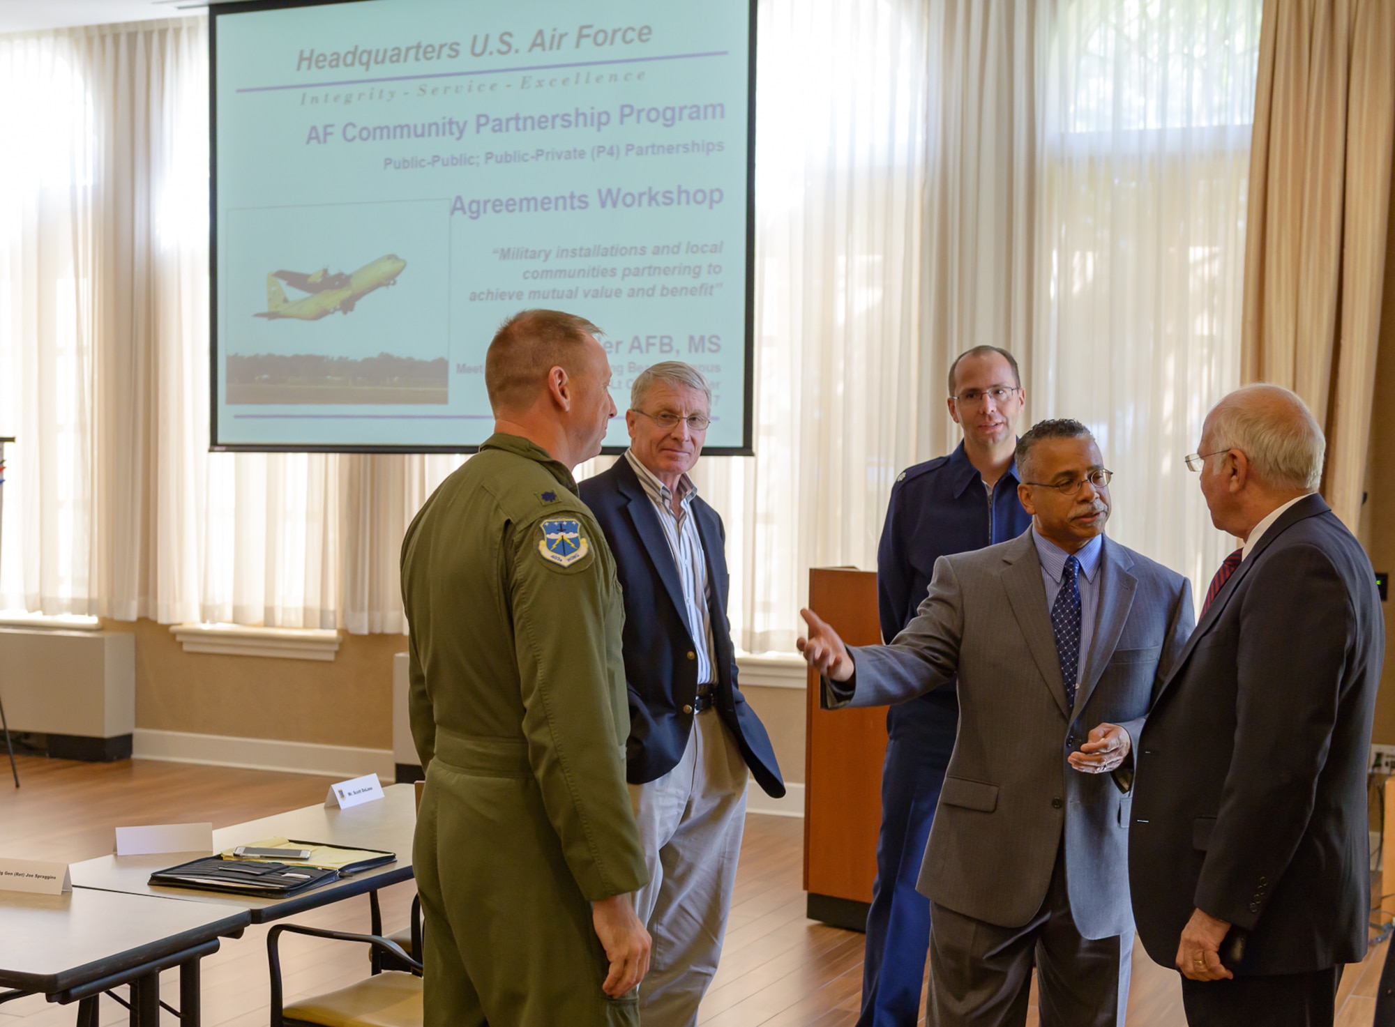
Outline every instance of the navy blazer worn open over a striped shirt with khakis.
MULTIPOLYGON (((674 769, 688 745, 693 714, 684 713, 698 695, 698 661, 688 659, 706 639, 693 639, 684 618, 684 590, 664 529, 629 460, 580 483, 615 554, 625 593, 625 682, 629 688, 626 777, 643 784, 674 769)), ((728 727, 752 777, 769 795, 785 794, 770 737, 737 687, 737 660, 727 622, 727 533, 721 518, 702 498, 693 500, 698 536, 707 557, 713 643, 717 659, 711 684, 716 712, 728 727)))

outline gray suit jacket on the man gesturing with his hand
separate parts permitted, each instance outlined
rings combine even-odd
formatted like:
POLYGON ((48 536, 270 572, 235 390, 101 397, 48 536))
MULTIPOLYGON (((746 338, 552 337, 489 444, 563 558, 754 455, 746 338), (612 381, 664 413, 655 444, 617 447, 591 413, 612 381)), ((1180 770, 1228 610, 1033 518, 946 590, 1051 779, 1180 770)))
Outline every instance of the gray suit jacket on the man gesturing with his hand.
POLYGON ((891 645, 852 649, 852 681, 823 703, 880 706, 958 675, 960 726, 918 890, 999 927, 1046 899, 1064 832, 1070 908, 1085 938, 1133 931, 1129 774, 1066 756, 1102 721, 1137 747, 1154 689, 1191 634, 1182 575, 1105 539, 1099 613, 1074 709, 1066 706, 1031 532, 940 557, 921 608, 891 645))

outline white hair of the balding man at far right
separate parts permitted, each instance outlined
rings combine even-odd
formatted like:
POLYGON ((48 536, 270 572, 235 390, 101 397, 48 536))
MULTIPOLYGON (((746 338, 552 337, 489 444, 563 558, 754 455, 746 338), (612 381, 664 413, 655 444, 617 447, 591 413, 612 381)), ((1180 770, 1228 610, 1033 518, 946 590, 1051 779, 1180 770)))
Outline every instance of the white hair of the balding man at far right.
POLYGON ((1243 452, 1264 484, 1309 491, 1322 484, 1327 437, 1307 403, 1282 385, 1246 385, 1216 403, 1211 445, 1243 452))

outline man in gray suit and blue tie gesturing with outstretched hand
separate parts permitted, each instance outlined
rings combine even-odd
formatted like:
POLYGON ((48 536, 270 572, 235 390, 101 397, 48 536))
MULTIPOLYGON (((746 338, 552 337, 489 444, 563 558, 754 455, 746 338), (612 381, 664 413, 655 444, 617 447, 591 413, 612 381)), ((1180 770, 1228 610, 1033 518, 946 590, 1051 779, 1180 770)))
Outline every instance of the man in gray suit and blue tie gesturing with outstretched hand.
POLYGON ((1071 420, 1017 445, 1031 530, 940 557, 887 646, 847 649, 805 610, 823 705, 880 706, 958 678, 960 727, 921 867, 928 1019, 1124 1021, 1133 744, 1191 632, 1187 579, 1103 534, 1109 479, 1071 420), (1091 727, 1092 726, 1092 727, 1091 727))

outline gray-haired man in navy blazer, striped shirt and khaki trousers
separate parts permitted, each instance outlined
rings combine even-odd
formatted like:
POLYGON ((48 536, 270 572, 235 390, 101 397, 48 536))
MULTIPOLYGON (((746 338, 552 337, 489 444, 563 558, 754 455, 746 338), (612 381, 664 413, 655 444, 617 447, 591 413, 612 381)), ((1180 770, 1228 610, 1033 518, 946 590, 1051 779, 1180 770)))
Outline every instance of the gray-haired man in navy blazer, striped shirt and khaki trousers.
POLYGON ((625 593, 628 779, 650 872, 635 906, 654 938, 640 1017, 664 1027, 698 1021, 717 970, 748 767, 770 795, 785 791, 766 728, 737 688, 721 518, 688 476, 710 409, 698 368, 654 364, 631 389, 629 449, 580 487, 625 593))

